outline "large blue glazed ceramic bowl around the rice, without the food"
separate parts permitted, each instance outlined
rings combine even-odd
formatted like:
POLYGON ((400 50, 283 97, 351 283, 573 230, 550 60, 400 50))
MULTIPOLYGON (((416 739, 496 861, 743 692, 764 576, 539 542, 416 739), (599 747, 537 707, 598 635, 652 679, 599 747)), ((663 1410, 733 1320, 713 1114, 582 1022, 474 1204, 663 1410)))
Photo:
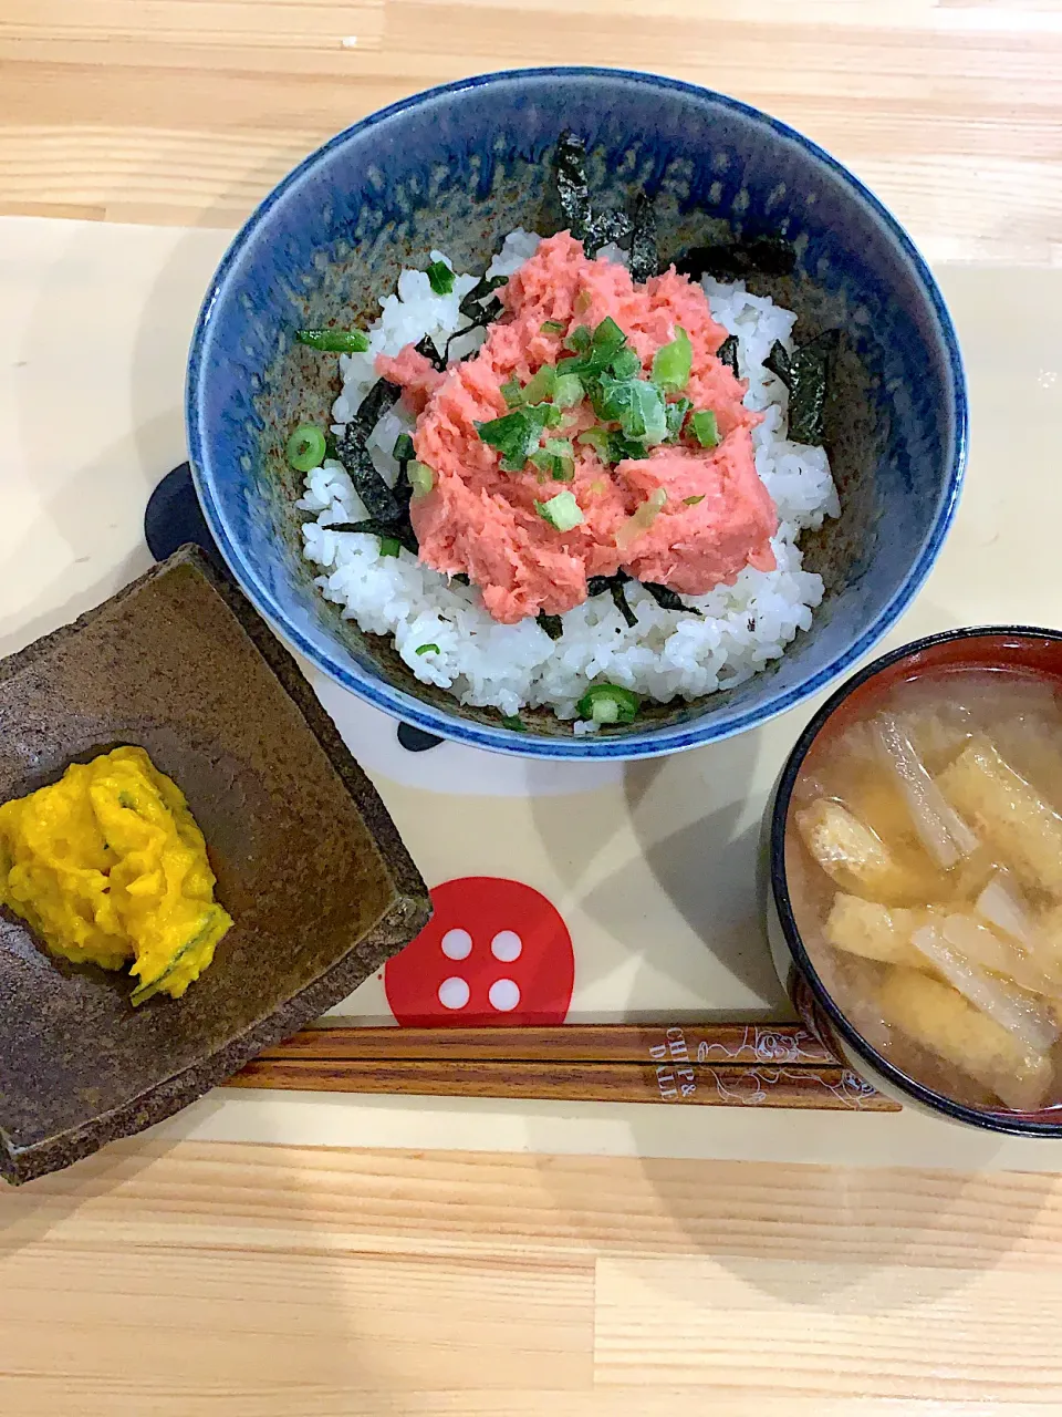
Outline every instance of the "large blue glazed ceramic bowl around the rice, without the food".
MULTIPOLYGON (((750 282, 752 283, 752 282, 750 282)), ((954 330, 925 262, 888 211, 783 123, 690 84, 616 69, 521 69, 430 89, 307 157, 253 213, 207 293, 191 347, 188 444, 200 500, 246 595, 306 659, 429 733, 551 758, 674 752, 765 723, 850 669, 929 572, 966 458, 954 330), (661 255, 732 235, 793 242, 794 276, 765 282, 799 333, 840 326, 827 445, 843 516, 806 536, 826 599, 807 635, 755 679, 627 728, 573 737, 551 716, 513 733, 421 686, 394 649, 340 619, 300 555, 297 476, 283 441, 324 419, 336 388, 293 344, 304 324, 372 317, 432 247, 483 269, 517 225, 558 230, 548 153, 564 129, 606 201, 656 200, 661 255), (545 160, 544 160, 545 159, 545 160)))

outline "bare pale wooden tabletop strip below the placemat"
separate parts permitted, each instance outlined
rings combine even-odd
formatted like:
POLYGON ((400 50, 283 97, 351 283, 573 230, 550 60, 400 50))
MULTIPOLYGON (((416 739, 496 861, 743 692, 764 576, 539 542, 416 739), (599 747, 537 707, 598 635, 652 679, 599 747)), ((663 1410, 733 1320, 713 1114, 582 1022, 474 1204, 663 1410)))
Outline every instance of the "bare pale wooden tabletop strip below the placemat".
POLYGON ((142 1141, 0 1193, 18 1417, 1038 1417, 1062 1179, 142 1141))

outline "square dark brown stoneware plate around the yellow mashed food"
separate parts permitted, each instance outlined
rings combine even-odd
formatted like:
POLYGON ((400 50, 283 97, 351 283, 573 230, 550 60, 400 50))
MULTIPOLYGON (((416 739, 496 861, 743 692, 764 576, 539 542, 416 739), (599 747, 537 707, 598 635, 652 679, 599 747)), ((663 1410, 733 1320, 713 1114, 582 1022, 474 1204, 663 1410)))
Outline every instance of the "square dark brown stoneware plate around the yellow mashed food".
POLYGON ((248 602, 184 547, 0 662, 0 801, 119 744, 184 791, 234 917, 183 999, 52 959, 0 915, 0 1173, 142 1131, 346 998, 430 915, 331 720, 248 602))

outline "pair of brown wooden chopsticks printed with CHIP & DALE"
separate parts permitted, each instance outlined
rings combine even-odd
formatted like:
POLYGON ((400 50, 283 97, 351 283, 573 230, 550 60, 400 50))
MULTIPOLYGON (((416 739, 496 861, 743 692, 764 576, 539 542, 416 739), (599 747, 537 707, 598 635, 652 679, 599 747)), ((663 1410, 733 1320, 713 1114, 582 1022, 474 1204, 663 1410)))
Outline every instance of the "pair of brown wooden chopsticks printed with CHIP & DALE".
POLYGON ((799 1023, 307 1029, 234 1087, 572 1102, 885 1111, 799 1023))

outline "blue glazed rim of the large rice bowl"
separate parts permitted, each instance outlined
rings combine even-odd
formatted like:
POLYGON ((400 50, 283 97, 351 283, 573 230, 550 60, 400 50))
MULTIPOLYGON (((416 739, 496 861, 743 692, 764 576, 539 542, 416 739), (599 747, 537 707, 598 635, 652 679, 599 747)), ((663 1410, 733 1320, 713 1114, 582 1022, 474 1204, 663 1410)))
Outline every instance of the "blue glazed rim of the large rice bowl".
POLYGON ((787 123, 783 123, 780 119, 773 118, 770 113, 765 113, 762 109, 758 109, 750 103, 743 103, 741 99, 731 98, 698 84, 688 84, 683 79, 647 74, 639 69, 605 68, 600 65, 538 65, 515 69, 497 69, 487 74, 472 75, 469 78, 456 79, 450 84, 422 89, 396 101, 395 103, 389 103, 387 108, 367 115, 360 122, 353 123, 334 137, 330 137, 326 143, 304 157, 296 167, 293 167, 292 171, 289 171, 287 176, 283 177, 276 187, 266 194, 266 197, 263 197, 232 238, 210 283, 210 288, 207 289, 207 295, 204 296, 195 320, 185 383, 185 429, 188 438, 191 475, 200 504, 202 507, 202 514, 236 582, 241 585, 263 619, 266 619, 283 639, 293 645, 317 670, 336 680, 341 684, 341 687, 358 694, 358 697, 367 700, 374 707, 384 710, 391 717, 411 723, 426 733, 439 734, 469 747, 487 748, 517 757, 568 758, 582 761, 660 757, 668 752, 678 752, 685 748, 702 747, 708 743, 722 741, 733 737, 735 734, 745 733, 749 728, 756 728, 760 724, 769 723, 772 718, 786 713, 804 699, 818 693, 827 684, 833 683, 840 674, 845 673, 847 669, 855 665, 874 648, 874 645, 881 640, 881 638, 889 631, 899 615, 910 604, 913 597, 925 584, 925 580, 929 575, 940 548, 943 547, 954 520, 963 486, 969 451, 969 421, 966 373, 954 322, 952 320, 943 293, 913 239, 908 235, 898 218, 892 215, 892 213, 871 191, 871 188, 865 186, 865 183, 862 183, 843 163, 840 163, 824 147, 820 147, 804 133, 790 128, 787 123), (564 738, 538 735, 534 730, 528 733, 517 733, 503 727, 501 724, 498 724, 498 727, 493 727, 462 718, 460 706, 456 701, 453 710, 439 708, 423 703, 406 690, 392 687, 382 679, 377 679, 375 676, 360 670, 357 666, 351 670, 346 666, 334 663, 327 653, 320 650, 313 643, 310 638, 289 623, 286 615, 275 602, 268 588, 246 563, 239 544, 229 534, 228 526, 221 513, 219 502, 214 497, 214 469, 207 451, 208 439, 200 428, 198 408, 205 373, 207 343, 211 334, 211 317, 222 288, 251 244, 256 228, 262 224, 273 207, 278 205, 278 203, 296 188, 319 164, 327 162, 337 149, 371 132, 378 125, 388 122, 408 109, 419 108, 425 103, 438 101, 439 98, 456 96, 473 89, 511 84, 514 81, 565 78, 589 78, 610 84, 634 84, 646 88, 671 91, 697 102, 707 101, 708 103, 718 105, 719 108, 728 109, 729 112, 759 123, 762 128, 769 129, 776 137, 784 142, 796 143, 814 160, 827 167, 841 180, 857 201, 861 201, 869 208, 871 215, 885 228, 889 238, 899 248, 902 256, 909 262, 913 276, 922 286, 936 319, 936 329, 946 356, 946 366, 954 402, 954 427, 952 431, 950 451, 946 455, 946 479, 932 529, 925 538, 906 580, 896 589, 893 597, 882 606, 875 619, 864 629, 858 639, 855 639, 844 650, 844 653, 837 656, 837 659, 834 659, 830 665, 824 666, 810 679, 789 689, 776 699, 742 710, 731 718, 714 720, 709 714, 701 714, 692 718, 688 724, 675 724, 667 728, 666 735, 661 735, 661 733, 656 728, 644 728, 641 731, 617 737, 585 734, 581 737, 572 735, 571 738, 564 738))

